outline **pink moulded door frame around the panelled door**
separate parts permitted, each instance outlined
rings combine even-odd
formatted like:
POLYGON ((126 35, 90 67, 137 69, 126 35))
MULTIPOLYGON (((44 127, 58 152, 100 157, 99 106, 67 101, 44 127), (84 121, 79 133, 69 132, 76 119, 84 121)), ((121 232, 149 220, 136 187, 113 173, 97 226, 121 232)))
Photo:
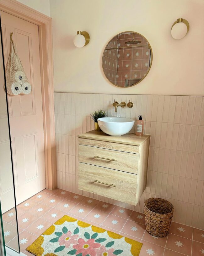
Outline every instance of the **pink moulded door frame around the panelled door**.
POLYGON ((0 0, 0 10, 39 27, 46 188, 52 190, 57 187, 52 19, 16 0, 0 0))

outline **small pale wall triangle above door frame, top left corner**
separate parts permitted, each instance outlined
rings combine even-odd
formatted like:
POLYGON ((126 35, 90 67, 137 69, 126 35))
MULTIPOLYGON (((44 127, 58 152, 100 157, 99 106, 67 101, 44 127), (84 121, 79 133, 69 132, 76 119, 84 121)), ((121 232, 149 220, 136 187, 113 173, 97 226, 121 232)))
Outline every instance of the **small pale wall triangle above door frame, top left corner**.
POLYGON ((49 0, 18 0, 30 8, 33 8, 47 16, 50 16, 50 1, 49 0))

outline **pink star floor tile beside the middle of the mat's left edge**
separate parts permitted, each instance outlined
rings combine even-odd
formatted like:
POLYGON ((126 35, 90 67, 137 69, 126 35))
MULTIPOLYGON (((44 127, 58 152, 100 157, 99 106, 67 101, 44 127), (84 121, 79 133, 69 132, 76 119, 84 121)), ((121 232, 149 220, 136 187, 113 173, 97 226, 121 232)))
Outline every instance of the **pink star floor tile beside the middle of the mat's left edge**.
POLYGON ((37 219, 33 224, 31 224, 25 230, 36 236, 40 236, 52 224, 53 223, 46 221, 45 219, 37 219))

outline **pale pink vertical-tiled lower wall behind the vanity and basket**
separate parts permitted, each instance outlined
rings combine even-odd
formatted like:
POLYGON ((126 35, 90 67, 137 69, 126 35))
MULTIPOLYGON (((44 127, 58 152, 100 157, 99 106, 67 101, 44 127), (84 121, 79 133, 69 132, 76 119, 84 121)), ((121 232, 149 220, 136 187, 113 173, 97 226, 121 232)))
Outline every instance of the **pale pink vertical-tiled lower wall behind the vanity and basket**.
MULTIPOLYGON (((58 188, 143 212, 144 200, 162 197, 175 208, 173 220, 204 228, 204 97, 54 93, 58 188), (147 188, 137 206, 78 190, 78 134, 94 129, 98 108, 115 116, 113 101, 131 100, 118 117, 142 115, 151 134, 147 188)), ((135 132, 135 127, 132 129, 135 132)))

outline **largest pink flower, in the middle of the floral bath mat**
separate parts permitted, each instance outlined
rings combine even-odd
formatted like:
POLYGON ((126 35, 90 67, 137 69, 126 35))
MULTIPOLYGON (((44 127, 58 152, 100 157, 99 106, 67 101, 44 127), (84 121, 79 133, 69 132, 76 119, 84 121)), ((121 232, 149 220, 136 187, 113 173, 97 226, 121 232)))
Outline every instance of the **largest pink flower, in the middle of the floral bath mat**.
POLYGON ((90 256, 96 256, 95 248, 99 248, 100 244, 95 243, 95 240, 93 238, 85 240, 83 238, 79 238, 78 244, 73 245, 74 249, 77 249, 76 254, 82 253, 82 256, 86 256, 89 254, 90 256))

